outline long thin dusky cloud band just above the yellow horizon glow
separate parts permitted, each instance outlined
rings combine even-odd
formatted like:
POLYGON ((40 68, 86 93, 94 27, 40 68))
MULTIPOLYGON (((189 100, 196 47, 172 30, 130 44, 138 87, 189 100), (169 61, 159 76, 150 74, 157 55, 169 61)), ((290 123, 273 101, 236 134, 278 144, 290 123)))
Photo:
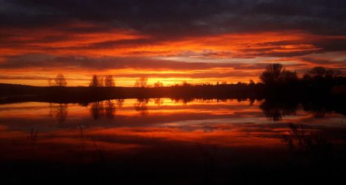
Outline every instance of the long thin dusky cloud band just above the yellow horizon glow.
POLYGON ((264 69, 265 63, 217 63, 217 62, 179 62, 171 60, 156 60, 153 58, 87 58, 83 56, 53 56, 53 55, 17 55, 8 56, 6 62, 0 63, 1 69, 17 69, 40 67, 55 69, 56 67, 78 67, 78 69, 172 69, 172 70, 201 70, 212 68, 234 69, 264 69))

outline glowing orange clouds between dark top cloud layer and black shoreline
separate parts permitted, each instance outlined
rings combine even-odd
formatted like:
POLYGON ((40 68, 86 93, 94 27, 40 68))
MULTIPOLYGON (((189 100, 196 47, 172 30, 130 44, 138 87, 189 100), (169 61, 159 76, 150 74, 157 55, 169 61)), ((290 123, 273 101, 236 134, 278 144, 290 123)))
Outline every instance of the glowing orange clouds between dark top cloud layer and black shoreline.
MULTIPOLYGON (((122 86, 132 86, 139 76, 152 78, 153 82, 161 80, 165 85, 184 80, 248 82, 258 80, 268 62, 282 62, 289 69, 306 71, 318 62, 311 62, 314 56, 309 60, 302 56, 338 51, 330 43, 346 40, 346 36, 299 30, 155 37, 131 29, 98 30, 96 24, 80 22, 30 31, 8 28, 0 34, 4 35, 0 44, 0 82, 28 85, 46 85, 46 79, 61 71, 69 78, 69 85, 88 85, 93 73, 116 75, 117 84, 122 86)), ((333 60, 329 67, 340 64, 340 60, 333 60)))

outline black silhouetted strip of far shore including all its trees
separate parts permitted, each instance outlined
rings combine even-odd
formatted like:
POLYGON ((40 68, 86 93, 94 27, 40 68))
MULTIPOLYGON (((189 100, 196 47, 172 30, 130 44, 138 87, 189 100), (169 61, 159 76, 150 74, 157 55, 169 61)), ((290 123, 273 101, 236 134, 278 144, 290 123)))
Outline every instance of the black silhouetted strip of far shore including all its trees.
POLYGON ((338 70, 314 67, 298 78, 295 71, 284 69, 282 64, 268 64, 260 76, 260 82, 216 85, 181 85, 164 87, 162 82, 148 85, 147 78, 138 78, 134 87, 115 87, 112 76, 91 78, 89 87, 65 87, 62 74, 51 87, 0 84, 2 101, 44 100, 55 102, 91 102, 111 98, 235 98, 235 99, 298 99, 334 96, 345 98, 346 78, 338 70), (15 97, 14 97, 15 96, 15 97), (18 97, 21 96, 21 97, 18 97))

